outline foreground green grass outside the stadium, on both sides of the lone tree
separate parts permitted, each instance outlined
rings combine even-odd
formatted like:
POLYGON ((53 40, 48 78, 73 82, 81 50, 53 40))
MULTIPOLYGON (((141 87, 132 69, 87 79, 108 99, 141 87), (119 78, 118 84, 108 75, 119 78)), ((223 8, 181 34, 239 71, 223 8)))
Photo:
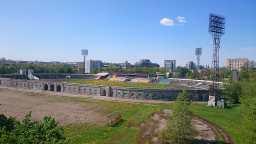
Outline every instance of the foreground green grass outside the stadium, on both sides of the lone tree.
MULTIPOLYGON (((86 99, 76 98, 77 102, 87 102, 86 99)), ((102 114, 107 115, 113 111, 121 111, 122 120, 116 125, 97 126, 83 123, 80 125, 65 125, 64 135, 70 140, 70 143, 138 143, 142 139, 139 138, 139 123, 149 121, 149 116, 153 112, 159 112, 162 109, 171 109, 173 104, 166 103, 150 103, 159 106, 144 105, 143 103, 122 103, 116 101, 90 100, 98 106, 104 107, 102 114), (126 125, 131 122, 132 127, 126 125)), ((226 130, 235 143, 241 143, 244 138, 241 134, 241 116, 239 115, 237 104, 228 104, 227 109, 214 108, 205 106, 205 104, 191 104, 194 114, 209 119, 226 130)), ((150 137, 150 135, 149 135, 150 137)), ((143 139, 143 143, 149 142, 143 139)), ((219 142, 221 143, 221 142, 219 142)))

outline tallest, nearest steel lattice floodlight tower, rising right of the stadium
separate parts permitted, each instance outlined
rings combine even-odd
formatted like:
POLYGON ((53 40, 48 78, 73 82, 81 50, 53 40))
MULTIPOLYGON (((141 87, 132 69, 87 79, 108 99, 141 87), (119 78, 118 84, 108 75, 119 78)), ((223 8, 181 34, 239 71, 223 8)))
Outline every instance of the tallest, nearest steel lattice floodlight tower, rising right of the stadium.
MULTIPOLYGON (((210 35, 213 37, 213 52, 212 52, 212 60, 211 60, 211 79, 212 85, 209 85, 209 101, 215 102, 215 96, 218 96, 219 89, 219 43, 220 37, 225 33, 225 16, 210 13, 209 14, 209 28, 208 31, 210 35), (213 97, 214 96, 214 97, 213 97), (212 98, 212 100, 210 100, 212 98)), ((209 103, 208 103, 209 104, 209 103)))

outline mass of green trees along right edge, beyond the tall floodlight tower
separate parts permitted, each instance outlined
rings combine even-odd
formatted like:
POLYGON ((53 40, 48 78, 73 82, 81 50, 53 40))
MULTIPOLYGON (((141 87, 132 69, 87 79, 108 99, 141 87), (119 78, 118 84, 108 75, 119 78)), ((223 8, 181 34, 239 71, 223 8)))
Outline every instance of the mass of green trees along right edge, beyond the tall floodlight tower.
POLYGON ((240 114, 243 117, 242 135, 246 136, 244 143, 256 143, 256 67, 244 63, 239 71, 239 81, 229 80, 224 84, 222 98, 239 103, 240 114))

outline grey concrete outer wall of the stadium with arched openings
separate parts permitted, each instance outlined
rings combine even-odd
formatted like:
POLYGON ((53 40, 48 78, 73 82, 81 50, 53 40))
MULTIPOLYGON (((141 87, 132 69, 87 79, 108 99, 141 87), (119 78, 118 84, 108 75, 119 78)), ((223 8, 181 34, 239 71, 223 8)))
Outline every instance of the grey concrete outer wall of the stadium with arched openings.
MULTIPOLYGON (((182 92, 182 89, 133 88, 10 78, 0 78, 0 85, 56 92, 155 100, 175 100, 179 92, 182 92)), ((209 90, 207 89, 186 91, 189 92, 190 98, 194 101, 208 101, 209 90)))

